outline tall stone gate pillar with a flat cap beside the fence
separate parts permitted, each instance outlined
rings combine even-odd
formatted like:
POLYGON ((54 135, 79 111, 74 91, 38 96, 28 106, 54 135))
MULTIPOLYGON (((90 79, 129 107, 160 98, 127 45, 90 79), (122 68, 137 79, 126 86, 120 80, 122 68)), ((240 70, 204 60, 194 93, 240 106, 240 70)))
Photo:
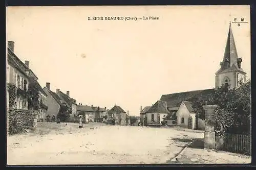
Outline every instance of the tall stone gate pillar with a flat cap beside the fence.
POLYGON ((215 149, 215 125, 213 124, 217 105, 203 106, 205 111, 204 149, 215 149))

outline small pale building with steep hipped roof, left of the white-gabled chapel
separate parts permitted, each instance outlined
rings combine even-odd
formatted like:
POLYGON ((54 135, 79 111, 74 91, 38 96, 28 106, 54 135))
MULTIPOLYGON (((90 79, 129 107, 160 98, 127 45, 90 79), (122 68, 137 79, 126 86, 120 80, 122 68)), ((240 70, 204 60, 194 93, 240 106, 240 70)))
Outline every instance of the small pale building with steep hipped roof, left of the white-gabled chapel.
POLYGON ((146 111, 146 125, 161 125, 168 113, 166 102, 161 100, 157 101, 146 111))

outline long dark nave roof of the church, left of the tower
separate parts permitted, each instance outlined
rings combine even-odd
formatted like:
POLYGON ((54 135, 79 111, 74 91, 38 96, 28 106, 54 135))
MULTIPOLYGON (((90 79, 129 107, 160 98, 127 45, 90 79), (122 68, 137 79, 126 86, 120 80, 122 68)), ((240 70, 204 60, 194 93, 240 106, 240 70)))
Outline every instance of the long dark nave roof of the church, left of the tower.
POLYGON ((186 91, 180 93, 164 94, 160 100, 166 101, 167 107, 179 107, 182 101, 186 101, 193 97, 200 97, 201 99, 208 99, 209 94, 214 94, 215 89, 186 91))

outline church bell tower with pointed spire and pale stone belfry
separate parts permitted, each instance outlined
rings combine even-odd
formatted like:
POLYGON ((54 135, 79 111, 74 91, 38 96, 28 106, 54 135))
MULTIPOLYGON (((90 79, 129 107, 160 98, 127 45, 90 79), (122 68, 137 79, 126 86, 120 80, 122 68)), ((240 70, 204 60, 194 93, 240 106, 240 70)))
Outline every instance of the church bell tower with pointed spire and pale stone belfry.
POLYGON ((229 22, 229 32, 221 68, 216 72, 215 88, 229 85, 230 89, 237 88, 239 82, 245 82, 246 72, 241 67, 242 58, 238 58, 236 44, 229 22))

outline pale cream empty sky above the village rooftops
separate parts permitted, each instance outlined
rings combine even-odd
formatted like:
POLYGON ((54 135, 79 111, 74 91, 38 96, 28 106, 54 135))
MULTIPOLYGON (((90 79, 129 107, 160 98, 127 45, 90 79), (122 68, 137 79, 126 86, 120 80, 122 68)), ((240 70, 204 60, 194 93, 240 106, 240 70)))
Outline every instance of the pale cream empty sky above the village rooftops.
POLYGON ((248 21, 231 25, 248 79, 249 6, 8 7, 7 40, 42 87, 50 82, 77 103, 139 115, 162 94, 215 87, 236 17, 248 21), (93 16, 159 20, 87 20, 93 16))

